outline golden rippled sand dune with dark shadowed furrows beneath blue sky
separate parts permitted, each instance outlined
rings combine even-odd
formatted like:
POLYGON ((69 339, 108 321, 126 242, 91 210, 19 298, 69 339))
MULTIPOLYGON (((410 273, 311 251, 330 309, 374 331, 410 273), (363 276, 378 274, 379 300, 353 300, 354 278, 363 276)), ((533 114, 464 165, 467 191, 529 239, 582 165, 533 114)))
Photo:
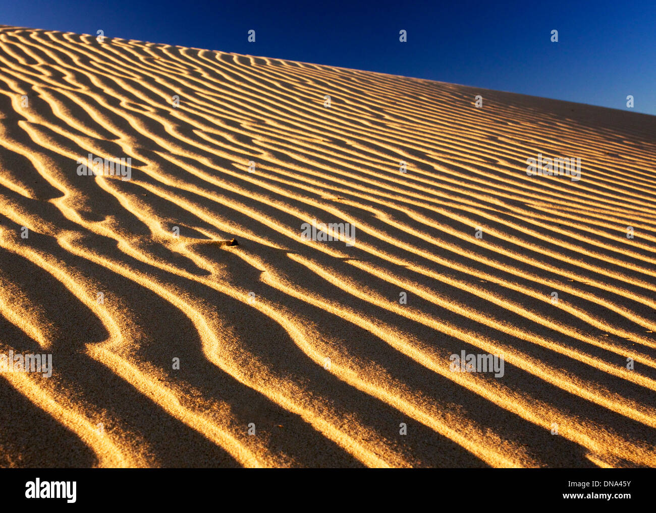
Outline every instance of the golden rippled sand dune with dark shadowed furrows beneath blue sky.
POLYGON ((8 26, 0 104, 1 466, 656 466, 653 117, 8 26))

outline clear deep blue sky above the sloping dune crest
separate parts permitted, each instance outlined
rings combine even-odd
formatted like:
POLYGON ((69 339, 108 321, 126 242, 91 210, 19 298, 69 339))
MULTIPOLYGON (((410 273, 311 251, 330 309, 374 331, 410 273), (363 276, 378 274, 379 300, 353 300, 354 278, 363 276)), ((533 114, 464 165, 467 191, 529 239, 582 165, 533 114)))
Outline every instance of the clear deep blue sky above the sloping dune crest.
POLYGON ((0 0, 0 24, 421 77, 656 114, 656 1, 0 0), (255 29, 256 42, 247 42, 255 29), (400 29, 407 43, 400 43, 400 29), (558 43, 550 31, 558 30, 558 43))

